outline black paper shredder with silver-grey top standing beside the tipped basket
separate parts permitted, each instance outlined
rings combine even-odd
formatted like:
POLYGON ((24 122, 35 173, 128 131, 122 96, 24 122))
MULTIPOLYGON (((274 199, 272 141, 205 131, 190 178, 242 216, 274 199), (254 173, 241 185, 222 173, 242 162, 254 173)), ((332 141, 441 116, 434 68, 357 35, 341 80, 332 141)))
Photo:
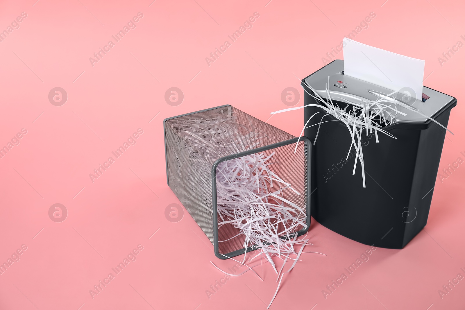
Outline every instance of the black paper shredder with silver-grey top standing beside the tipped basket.
MULTIPOLYGON (((343 60, 334 60, 301 84, 306 90, 306 105, 322 104, 307 93, 314 95, 308 86, 327 99, 328 84, 332 101, 339 104, 344 99, 369 101, 392 93, 344 75, 343 60)), ((390 98, 407 103, 445 127, 452 107, 457 105, 454 97, 425 86, 423 100, 405 93, 390 98)), ((426 225, 446 130, 417 112, 405 110, 407 115, 398 114, 391 125, 382 128, 396 139, 378 133, 376 143, 374 133, 363 131, 365 188, 360 163, 352 175, 356 156, 354 146, 349 152, 352 139, 346 125, 327 115, 317 137, 319 125, 315 124, 324 113, 316 114, 307 124, 314 126, 306 128, 305 136, 312 143, 317 137, 312 147, 311 214, 320 224, 360 243, 391 249, 402 249, 426 225)), ((319 111, 319 107, 307 106, 305 122, 319 111)))

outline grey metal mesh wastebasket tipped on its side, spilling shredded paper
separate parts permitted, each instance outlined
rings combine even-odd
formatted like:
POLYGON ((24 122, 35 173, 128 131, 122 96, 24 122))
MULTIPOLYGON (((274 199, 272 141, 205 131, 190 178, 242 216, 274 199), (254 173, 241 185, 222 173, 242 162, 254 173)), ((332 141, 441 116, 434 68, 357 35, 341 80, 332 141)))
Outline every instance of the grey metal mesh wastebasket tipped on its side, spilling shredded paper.
MULTIPOLYGON (((310 225, 307 138, 300 139, 294 153, 296 137, 229 105, 165 119, 164 127, 168 186, 210 239, 217 257, 226 259, 253 250, 245 249, 245 236, 232 224, 218 227, 217 171, 228 160, 272 154, 270 170, 300 193, 287 188, 282 194, 305 212, 305 223, 310 225)), ((306 230, 300 225, 292 232, 300 235, 306 230)))

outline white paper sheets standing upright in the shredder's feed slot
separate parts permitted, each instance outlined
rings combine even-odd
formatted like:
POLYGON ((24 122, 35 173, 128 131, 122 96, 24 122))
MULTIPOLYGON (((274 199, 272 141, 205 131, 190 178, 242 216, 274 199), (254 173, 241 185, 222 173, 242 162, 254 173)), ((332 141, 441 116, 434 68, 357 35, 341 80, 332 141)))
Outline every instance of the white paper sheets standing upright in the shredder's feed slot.
POLYGON ((344 74, 361 79, 392 91, 405 87, 415 92, 421 100, 425 60, 388 52, 344 38, 344 74))

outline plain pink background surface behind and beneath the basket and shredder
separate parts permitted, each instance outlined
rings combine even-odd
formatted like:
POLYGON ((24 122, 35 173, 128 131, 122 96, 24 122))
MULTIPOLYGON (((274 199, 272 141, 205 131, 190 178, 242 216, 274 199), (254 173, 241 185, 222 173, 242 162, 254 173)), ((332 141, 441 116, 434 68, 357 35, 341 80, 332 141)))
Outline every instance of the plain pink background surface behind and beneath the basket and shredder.
MULTIPOLYGON (((166 185, 162 120, 232 104, 298 135, 302 110, 270 112, 286 108, 287 87, 300 94, 299 103, 287 104, 302 105, 299 79, 323 66, 352 30, 360 30, 355 40, 362 43, 426 60, 425 86, 458 99, 439 169, 465 158, 463 4, 35 1, 0 4, 0 30, 7 30, 0 42, 0 146, 12 142, 0 158, 0 263, 11 262, 0 275, 2 310, 265 309, 277 286, 268 264, 255 268, 264 282, 248 272, 206 293, 224 277, 210 261, 224 269, 235 262, 213 255, 187 212, 166 217, 179 200, 166 185), (246 24, 252 27, 232 42, 228 35, 254 12, 259 17, 246 24), (371 12, 376 17, 357 28, 371 12), (125 25, 127 33, 114 40, 125 25), (226 40, 226 51, 207 62, 226 40), (96 59, 99 48, 106 54, 96 59), (455 53, 445 59, 448 48, 455 53), (53 101, 55 87, 66 91, 66 103, 53 101), (165 100, 171 87, 182 91, 182 103, 170 101, 171 92, 165 100), (116 158, 112 152, 125 142, 116 158), (89 177, 100 164, 106 170, 89 177), (53 204, 64 206, 61 215, 55 206, 49 212, 53 204), (125 258, 124 270, 114 272, 125 258), (97 284, 103 289, 91 294, 97 284)), ((270 309, 463 309, 465 280, 454 279, 465 276, 465 168, 457 165, 437 179, 425 231, 403 250, 373 251, 329 296, 326 285, 370 247, 313 221, 314 245, 306 251, 326 256, 303 254, 270 309), (441 296, 448 281, 458 284, 441 296)))

